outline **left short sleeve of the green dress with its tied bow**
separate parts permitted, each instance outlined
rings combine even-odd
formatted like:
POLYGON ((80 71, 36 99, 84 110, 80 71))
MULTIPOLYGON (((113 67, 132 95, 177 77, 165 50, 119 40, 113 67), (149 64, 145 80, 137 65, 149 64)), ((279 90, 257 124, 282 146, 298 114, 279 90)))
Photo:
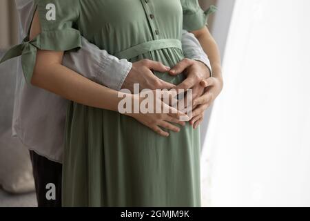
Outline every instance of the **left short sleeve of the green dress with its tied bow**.
MULTIPOLYGON (((8 59, 21 56, 21 64, 23 68, 23 75, 25 76, 25 81, 30 84, 32 79, 32 74, 34 70, 34 64, 37 57, 37 48, 41 50, 56 50, 56 51, 68 51, 72 49, 81 48, 81 35, 79 30, 72 28, 72 17, 79 16, 77 11, 64 9, 65 13, 61 16, 61 23, 56 21, 47 21, 45 15, 47 13, 46 6, 48 1, 42 3, 37 3, 41 0, 35 0, 37 4, 37 10, 39 11, 39 17, 41 21, 41 34, 30 41, 28 32, 28 37, 23 39, 23 42, 14 46, 6 55, 1 59, 0 64, 8 59), (59 44, 61 42, 61 44, 59 44)), ((68 6, 70 4, 76 4, 77 1, 66 0, 68 6)), ((49 3, 54 3, 57 8, 61 8, 59 2, 50 1, 49 3)), ((63 12, 61 12, 63 13, 63 12)))

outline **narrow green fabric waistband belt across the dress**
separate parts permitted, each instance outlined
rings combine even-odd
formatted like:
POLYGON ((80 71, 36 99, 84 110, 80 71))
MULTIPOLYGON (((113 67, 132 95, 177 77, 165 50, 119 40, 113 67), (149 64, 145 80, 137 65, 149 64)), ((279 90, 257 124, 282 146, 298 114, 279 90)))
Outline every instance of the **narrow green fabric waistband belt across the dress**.
POLYGON ((117 52, 114 54, 114 56, 118 57, 118 59, 129 60, 137 57, 138 55, 143 55, 146 52, 161 50, 164 48, 178 48, 182 50, 182 42, 178 39, 158 39, 153 41, 146 41, 142 44, 138 44, 136 46, 132 46, 131 48, 122 50, 121 52, 117 52))

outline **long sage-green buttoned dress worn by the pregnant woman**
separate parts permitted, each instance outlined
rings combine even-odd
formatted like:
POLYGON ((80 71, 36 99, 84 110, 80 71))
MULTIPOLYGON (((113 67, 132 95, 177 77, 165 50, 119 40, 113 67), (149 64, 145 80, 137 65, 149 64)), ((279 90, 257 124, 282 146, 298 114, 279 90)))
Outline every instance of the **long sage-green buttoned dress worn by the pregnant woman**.
MULTIPOLYGON (((79 48, 80 35, 120 59, 172 67, 184 58, 182 30, 203 28, 214 11, 197 0, 41 0, 37 9, 41 35, 14 48, 28 82, 37 48, 79 48)), ((187 124, 161 137, 131 117, 70 102, 62 193, 63 206, 200 206, 199 130, 187 124)))

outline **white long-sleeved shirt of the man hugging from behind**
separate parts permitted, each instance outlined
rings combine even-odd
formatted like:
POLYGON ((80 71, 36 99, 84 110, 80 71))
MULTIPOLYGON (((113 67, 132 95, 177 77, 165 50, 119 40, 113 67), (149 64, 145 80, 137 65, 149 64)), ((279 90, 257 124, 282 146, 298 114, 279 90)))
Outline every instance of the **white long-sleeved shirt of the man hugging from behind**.
MULTIPOLYGON (((15 0, 15 3, 19 12, 21 40, 28 33, 34 2, 15 0)), ((209 59, 194 35, 183 31, 182 44, 185 57, 202 61, 211 70, 209 59)), ((65 53, 63 65, 114 90, 121 89, 132 68, 129 61, 109 55, 84 38, 80 50, 65 53)), ((68 100, 25 84, 19 61, 12 120, 14 136, 19 137, 26 147, 39 155, 62 162, 67 105, 68 100)))

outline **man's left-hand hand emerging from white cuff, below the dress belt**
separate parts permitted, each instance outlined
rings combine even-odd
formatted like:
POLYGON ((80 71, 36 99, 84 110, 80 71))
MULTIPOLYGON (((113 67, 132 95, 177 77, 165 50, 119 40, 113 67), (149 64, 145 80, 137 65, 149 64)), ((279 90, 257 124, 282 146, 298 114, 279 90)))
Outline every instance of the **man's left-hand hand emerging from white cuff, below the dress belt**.
POLYGON ((156 77, 154 73, 152 73, 152 70, 167 73, 170 68, 164 66, 161 62, 148 59, 134 62, 132 70, 130 70, 130 73, 124 81, 122 89, 126 88, 134 93, 134 84, 137 83, 140 84, 140 90, 171 89, 175 87, 174 84, 169 84, 156 77))

